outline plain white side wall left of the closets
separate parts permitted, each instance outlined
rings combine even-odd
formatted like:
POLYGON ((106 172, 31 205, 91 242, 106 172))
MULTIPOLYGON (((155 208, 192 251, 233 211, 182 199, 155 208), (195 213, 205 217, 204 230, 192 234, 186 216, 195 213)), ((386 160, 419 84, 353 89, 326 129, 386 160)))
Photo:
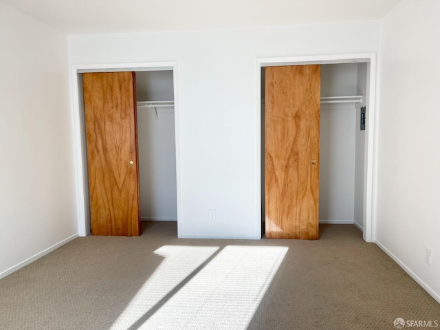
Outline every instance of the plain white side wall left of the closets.
POLYGON ((0 1, 0 277, 78 232, 67 37, 0 1))

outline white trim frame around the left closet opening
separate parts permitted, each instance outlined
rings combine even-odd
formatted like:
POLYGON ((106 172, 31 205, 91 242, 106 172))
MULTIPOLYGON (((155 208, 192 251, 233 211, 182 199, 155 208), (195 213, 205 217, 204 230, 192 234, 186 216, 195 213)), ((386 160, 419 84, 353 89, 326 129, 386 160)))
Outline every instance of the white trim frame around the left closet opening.
POLYGON ((79 236, 87 236, 88 215, 86 214, 85 200, 85 173, 83 166, 86 157, 82 137, 83 127, 80 117, 80 89, 78 87, 78 74, 85 72, 120 72, 120 71, 153 71, 173 70, 174 88, 174 116, 175 116, 175 148, 176 148, 176 188, 177 188, 177 237, 181 238, 183 231, 182 201, 181 201, 181 148, 180 148, 180 122, 179 122, 179 93, 178 93, 178 68, 177 61, 146 62, 146 63, 83 63, 70 64, 70 91, 71 115, 74 144, 74 170, 76 186, 76 212, 79 236))

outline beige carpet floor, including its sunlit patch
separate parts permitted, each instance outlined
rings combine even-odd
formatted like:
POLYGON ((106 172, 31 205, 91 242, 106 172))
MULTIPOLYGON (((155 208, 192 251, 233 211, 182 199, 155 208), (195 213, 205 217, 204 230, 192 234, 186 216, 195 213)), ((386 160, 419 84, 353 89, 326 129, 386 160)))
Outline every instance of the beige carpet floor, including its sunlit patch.
POLYGON ((440 304, 353 225, 246 241, 177 239, 176 223, 149 222, 140 237, 75 239, 0 280, 2 330, 383 330, 396 318, 440 321, 440 304))

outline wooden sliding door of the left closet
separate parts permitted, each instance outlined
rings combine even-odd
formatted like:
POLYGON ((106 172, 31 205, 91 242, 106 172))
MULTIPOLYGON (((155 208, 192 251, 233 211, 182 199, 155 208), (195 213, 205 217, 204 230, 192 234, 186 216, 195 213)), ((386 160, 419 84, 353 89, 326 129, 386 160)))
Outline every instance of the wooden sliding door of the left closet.
POLYGON ((140 234, 134 72, 83 74, 91 234, 140 234))

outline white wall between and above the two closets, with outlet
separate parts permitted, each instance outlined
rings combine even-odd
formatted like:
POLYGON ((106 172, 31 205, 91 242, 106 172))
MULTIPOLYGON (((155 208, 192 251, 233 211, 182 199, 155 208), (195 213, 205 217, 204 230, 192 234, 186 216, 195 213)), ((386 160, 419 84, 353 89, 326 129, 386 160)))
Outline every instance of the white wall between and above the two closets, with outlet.
POLYGON ((376 52, 380 22, 69 36, 81 63, 177 61, 182 235, 259 238, 257 58, 376 52), (209 221, 208 210, 217 210, 209 221))

